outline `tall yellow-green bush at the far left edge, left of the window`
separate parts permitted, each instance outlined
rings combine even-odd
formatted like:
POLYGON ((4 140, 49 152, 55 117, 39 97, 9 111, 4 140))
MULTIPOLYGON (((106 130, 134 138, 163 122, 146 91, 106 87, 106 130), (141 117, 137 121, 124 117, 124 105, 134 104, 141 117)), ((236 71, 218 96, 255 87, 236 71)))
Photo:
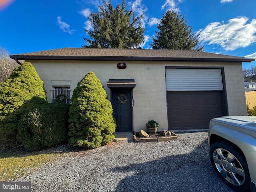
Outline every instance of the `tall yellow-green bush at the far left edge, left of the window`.
POLYGON ((44 84, 30 62, 15 68, 10 78, 0 83, 0 134, 16 137, 24 102, 32 97, 46 100, 44 84))

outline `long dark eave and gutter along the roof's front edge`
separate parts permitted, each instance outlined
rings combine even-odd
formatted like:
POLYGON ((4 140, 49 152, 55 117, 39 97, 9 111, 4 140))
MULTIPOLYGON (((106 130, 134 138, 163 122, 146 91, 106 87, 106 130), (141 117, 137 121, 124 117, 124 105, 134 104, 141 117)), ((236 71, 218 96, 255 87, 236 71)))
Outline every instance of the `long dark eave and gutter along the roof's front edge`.
POLYGON ((253 62, 253 58, 171 58, 171 57, 118 57, 118 56, 33 56, 11 55, 18 60, 132 60, 132 61, 225 61, 225 62, 253 62))

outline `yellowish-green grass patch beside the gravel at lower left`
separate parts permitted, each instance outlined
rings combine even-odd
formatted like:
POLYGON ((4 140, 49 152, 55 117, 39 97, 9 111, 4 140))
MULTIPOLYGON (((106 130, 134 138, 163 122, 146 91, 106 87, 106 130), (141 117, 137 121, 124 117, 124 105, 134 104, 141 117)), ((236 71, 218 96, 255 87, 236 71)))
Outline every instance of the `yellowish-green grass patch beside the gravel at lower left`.
POLYGON ((52 149, 39 152, 29 152, 25 149, 0 151, 0 182, 13 181, 36 170, 38 166, 54 162, 65 155, 52 149))

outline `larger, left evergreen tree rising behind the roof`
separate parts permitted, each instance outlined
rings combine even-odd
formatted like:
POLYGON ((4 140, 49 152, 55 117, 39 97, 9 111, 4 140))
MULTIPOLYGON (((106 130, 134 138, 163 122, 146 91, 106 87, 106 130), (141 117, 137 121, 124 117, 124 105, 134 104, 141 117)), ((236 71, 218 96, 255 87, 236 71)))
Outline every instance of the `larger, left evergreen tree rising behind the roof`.
POLYGON ((88 16, 93 30, 85 30, 90 39, 84 38, 86 47, 91 48, 140 48, 144 42, 144 29, 140 20, 141 16, 134 16, 132 9, 125 10, 125 2, 122 6, 117 4, 114 9, 111 0, 104 0, 104 5, 99 6, 95 14, 88 16))

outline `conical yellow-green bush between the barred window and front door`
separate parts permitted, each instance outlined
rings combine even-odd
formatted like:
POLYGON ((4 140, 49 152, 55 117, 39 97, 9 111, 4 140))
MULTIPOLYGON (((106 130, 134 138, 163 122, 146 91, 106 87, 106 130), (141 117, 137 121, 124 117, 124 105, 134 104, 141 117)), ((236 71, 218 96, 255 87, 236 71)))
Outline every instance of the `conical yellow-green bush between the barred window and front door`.
POLYGON ((93 72, 78 82, 68 119, 70 145, 97 148, 114 140, 116 123, 106 97, 106 91, 93 72))

